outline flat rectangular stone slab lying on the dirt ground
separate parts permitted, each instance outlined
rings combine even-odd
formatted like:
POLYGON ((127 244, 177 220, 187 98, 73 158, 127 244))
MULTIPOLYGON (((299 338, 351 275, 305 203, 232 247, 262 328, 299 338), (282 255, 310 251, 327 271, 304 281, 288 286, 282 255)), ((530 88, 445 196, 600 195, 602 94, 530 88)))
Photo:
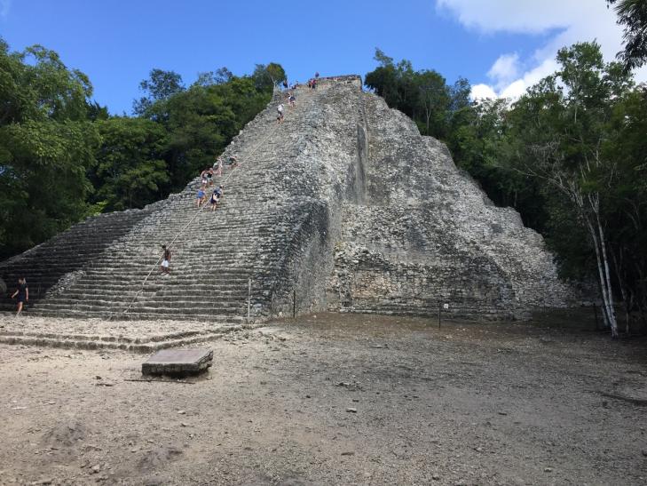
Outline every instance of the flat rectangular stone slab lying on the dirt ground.
POLYGON ((213 350, 162 349, 141 365, 143 375, 197 375, 205 371, 213 362, 213 350))

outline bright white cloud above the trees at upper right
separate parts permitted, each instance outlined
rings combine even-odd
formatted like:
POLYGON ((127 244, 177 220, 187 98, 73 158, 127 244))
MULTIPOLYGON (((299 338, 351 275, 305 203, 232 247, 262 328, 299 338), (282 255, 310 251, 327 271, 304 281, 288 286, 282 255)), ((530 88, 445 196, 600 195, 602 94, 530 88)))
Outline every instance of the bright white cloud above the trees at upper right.
MULTIPOLYGON (((454 15, 463 26, 480 33, 512 32, 554 34, 526 59, 518 53, 503 53, 487 73, 487 85, 499 96, 517 98, 542 77, 556 70, 556 53, 576 42, 596 40, 604 58, 614 60, 622 48, 622 28, 616 13, 604 0, 436 0, 438 10, 454 15)), ((513 48, 514 49, 514 48, 513 48)), ((647 68, 635 73, 636 80, 647 80, 647 68)), ((485 93, 485 85, 478 90, 485 93)), ((475 87, 476 88, 476 87, 475 87)))

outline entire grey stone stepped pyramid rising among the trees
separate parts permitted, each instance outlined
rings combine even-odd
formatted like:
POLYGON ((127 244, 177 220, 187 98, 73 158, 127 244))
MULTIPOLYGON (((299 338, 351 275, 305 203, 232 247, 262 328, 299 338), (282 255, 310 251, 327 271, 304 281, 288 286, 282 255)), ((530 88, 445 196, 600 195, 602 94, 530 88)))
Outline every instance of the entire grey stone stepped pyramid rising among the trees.
POLYGON ((298 88, 276 123, 284 96, 226 148, 239 165, 217 211, 196 210, 196 178, 144 209, 86 219, 1 262, 0 276, 27 277, 38 315, 235 321, 447 304, 455 317, 516 319, 572 305, 541 236, 359 76, 298 88))

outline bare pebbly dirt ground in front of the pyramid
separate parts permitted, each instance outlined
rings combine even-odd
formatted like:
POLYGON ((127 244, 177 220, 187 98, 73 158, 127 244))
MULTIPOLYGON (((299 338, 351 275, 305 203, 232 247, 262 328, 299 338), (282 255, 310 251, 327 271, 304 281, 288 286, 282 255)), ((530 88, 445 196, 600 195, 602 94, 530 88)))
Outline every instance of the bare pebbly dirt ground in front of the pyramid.
POLYGON ((0 346, 0 483, 645 484, 646 344, 317 315, 207 343, 190 383, 0 346))

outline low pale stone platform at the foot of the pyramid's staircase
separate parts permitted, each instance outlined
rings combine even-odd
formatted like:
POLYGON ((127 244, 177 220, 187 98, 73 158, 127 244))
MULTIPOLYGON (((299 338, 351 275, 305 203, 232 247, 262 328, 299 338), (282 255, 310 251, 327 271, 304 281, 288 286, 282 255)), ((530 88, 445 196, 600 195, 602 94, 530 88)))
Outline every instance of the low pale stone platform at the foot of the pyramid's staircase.
POLYGON ((0 344, 72 349, 121 349, 149 354, 160 349, 195 345, 230 332, 261 324, 215 320, 211 323, 174 321, 107 321, 20 317, 0 314, 0 344))

